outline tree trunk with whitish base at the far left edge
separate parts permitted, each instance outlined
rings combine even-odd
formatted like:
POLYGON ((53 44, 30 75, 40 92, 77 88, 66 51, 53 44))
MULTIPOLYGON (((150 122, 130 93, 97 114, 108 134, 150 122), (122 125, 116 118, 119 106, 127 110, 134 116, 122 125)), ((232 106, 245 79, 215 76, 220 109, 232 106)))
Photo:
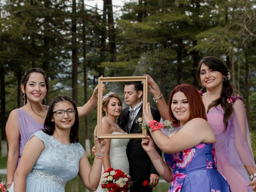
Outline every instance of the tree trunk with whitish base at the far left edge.
POLYGON ((5 111, 5 80, 4 80, 4 64, 0 66, 0 85, 1 85, 1 152, 2 157, 7 157, 8 149, 7 149, 7 140, 6 140, 6 111, 5 111))

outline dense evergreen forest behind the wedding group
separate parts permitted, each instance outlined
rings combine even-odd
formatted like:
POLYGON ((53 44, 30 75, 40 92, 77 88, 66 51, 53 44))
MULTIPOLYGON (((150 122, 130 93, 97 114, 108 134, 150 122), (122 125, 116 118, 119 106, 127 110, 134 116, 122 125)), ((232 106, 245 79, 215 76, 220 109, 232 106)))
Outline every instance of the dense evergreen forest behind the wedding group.
MULTIPOLYGON (((68 95, 88 101, 100 75, 150 74, 166 101, 181 83, 198 87, 195 71, 204 56, 222 58, 243 98, 256 155, 255 0, 130 0, 113 12, 89 0, 0 0, 1 155, 5 125, 23 106, 25 71, 40 67, 50 83, 48 102, 68 95)), ((122 87, 107 87, 117 91, 122 87)), ((149 101, 153 104, 152 96, 149 101)), ((90 154, 97 110, 80 119, 80 143, 90 154)))

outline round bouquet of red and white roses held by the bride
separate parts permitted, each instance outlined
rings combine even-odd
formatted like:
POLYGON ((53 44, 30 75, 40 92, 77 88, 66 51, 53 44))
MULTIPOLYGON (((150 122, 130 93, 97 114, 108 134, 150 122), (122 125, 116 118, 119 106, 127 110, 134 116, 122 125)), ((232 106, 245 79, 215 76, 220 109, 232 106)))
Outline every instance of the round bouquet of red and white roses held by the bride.
POLYGON ((109 168, 100 179, 103 192, 128 192, 131 178, 120 169, 109 168))

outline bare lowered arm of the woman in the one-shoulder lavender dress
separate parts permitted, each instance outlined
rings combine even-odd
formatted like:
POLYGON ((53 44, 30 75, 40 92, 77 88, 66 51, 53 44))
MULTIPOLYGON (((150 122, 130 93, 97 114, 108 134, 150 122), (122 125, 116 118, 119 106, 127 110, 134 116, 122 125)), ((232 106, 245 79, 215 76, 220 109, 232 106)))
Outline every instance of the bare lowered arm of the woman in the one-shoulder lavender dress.
POLYGON ((14 180, 14 172, 17 168, 20 150, 20 131, 18 127, 18 111, 13 110, 6 123, 6 136, 8 140, 8 159, 7 159, 7 188, 10 188, 14 180))

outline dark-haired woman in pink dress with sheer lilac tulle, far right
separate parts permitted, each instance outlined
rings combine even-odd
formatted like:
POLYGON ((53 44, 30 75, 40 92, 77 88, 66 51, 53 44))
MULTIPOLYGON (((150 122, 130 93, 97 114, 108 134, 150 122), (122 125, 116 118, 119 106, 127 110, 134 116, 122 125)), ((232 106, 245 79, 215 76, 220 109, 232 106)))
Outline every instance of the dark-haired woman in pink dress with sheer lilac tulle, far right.
MULTIPOLYGON (((153 94, 163 120, 168 119, 168 105, 158 85, 149 75, 144 76, 148 76, 148 91, 153 94)), ((252 192, 256 190, 256 166, 248 122, 244 104, 229 81, 228 68, 219 58, 208 56, 200 61, 197 76, 206 89, 202 100, 216 136, 218 171, 226 177, 232 192, 252 192)))

